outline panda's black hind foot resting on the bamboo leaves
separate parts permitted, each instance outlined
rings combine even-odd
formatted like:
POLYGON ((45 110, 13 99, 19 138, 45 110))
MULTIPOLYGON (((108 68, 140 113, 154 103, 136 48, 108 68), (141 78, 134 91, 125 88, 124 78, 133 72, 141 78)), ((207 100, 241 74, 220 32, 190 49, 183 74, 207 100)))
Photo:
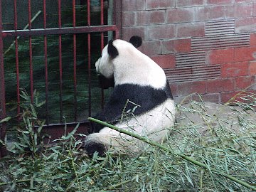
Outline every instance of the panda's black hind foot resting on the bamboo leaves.
POLYGON ((107 151, 107 146, 98 142, 90 142, 85 145, 85 150, 87 151, 88 156, 92 157, 95 151, 98 152, 98 156, 105 156, 105 152, 107 151))

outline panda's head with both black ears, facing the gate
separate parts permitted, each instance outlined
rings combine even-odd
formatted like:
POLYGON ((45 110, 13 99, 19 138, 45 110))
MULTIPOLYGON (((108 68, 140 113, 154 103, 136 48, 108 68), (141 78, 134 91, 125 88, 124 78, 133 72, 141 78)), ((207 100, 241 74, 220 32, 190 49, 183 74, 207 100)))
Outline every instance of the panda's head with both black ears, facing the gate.
POLYGON ((113 78, 114 59, 122 54, 121 52, 124 52, 125 50, 137 50, 136 48, 141 45, 142 38, 139 36, 132 36, 129 42, 120 39, 109 41, 107 46, 105 46, 105 48, 102 50, 102 56, 95 63, 97 73, 107 79, 113 78))

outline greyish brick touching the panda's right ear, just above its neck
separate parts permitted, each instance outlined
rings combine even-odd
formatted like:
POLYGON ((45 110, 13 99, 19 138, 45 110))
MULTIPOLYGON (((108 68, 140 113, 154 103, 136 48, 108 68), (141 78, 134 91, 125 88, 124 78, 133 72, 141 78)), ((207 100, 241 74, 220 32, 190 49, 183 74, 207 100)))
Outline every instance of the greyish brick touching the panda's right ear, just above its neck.
POLYGON ((142 46, 138 48, 146 55, 160 55, 161 42, 160 41, 144 41, 142 46))

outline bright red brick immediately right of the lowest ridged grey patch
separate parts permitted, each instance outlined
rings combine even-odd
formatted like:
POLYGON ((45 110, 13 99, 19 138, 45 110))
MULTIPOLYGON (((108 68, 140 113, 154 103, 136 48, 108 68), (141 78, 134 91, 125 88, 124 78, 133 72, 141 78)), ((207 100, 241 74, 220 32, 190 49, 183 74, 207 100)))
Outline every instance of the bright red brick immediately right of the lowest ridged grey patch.
POLYGON ((248 62, 226 63, 221 65, 221 76, 224 78, 245 76, 247 73, 248 62))

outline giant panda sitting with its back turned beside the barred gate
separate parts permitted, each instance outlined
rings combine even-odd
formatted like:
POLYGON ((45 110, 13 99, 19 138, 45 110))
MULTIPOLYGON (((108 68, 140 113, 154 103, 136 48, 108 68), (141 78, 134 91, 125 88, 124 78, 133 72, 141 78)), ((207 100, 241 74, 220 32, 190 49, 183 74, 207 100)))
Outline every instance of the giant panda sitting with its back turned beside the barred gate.
MULTIPOLYGON (((162 142, 174 125, 175 105, 164 70, 137 48, 142 38, 129 42, 109 41, 95 63, 101 80, 114 80, 110 100, 94 118, 127 129, 155 142, 162 142)), ((108 149, 132 153, 142 151, 144 143, 113 129, 92 123, 92 134, 85 139, 85 150, 100 156, 108 149)))

